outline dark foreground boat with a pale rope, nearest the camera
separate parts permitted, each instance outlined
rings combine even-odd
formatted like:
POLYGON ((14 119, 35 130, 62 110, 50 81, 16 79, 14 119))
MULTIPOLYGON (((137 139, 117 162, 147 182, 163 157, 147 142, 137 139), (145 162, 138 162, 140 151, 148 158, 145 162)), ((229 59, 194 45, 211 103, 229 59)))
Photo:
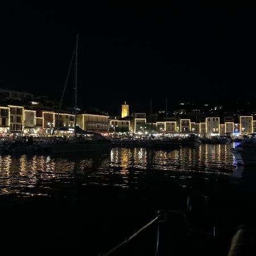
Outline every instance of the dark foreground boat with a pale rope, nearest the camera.
MULTIPOLYGON (((142 228, 101 256, 249 255, 253 236, 243 222, 210 214, 209 198, 190 195, 186 210, 159 210, 142 228)), ((250 254, 255 255, 255 254, 250 254)))

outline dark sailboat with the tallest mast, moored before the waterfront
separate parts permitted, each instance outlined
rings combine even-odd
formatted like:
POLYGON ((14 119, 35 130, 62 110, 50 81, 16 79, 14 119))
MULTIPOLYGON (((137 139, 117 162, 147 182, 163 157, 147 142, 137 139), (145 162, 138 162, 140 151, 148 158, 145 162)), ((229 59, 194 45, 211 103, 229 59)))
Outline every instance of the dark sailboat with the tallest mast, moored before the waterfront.
MULTIPOLYGON (((112 148, 111 141, 104 138, 101 134, 93 133, 90 131, 84 131, 79 126, 77 126, 77 55, 78 55, 78 42, 79 42, 79 35, 76 36, 76 48, 73 52, 73 56, 76 53, 76 60, 75 60, 75 129, 74 129, 74 138, 67 139, 65 141, 57 141, 53 139, 53 133, 56 130, 56 123, 53 127, 52 137, 48 141, 47 145, 44 148, 49 148, 52 154, 72 154, 72 153, 84 153, 84 152, 96 152, 96 151, 104 151, 110 150, 112 148), (81 139, 77 137, 77 134, 91 134, 93 135, 92 138, 89 139, 81 139)), ((73 61, 73 56, 71 60, 71 64, 73 61)), ((65 88, 64 88, 65 92, 65 88)), ((64 95, 63 92, 63 95, 64 95)), ((61 99, 62 102, 63 98, 61 99)), ((59 106, 59 112, 61 107, 61 102, 59 106)), ((57 118, 59 117, 59 112, 57 114, 57 118)))

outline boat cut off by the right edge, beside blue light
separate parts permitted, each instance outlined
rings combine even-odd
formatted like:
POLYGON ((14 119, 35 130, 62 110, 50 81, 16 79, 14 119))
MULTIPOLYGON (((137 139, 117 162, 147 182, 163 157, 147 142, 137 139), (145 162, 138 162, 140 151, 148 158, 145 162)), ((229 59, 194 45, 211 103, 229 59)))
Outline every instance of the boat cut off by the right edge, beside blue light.
POLYGON ((255 134, 249 134, 242 139, 241 143, 230 149, 238 164, 255 165, 256 164, 256 137, 255 134))

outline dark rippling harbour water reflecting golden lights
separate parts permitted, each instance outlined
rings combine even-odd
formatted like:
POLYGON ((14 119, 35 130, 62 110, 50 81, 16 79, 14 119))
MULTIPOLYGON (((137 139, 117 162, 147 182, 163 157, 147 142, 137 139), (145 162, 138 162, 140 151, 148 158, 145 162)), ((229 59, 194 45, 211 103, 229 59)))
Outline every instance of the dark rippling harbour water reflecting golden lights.
POLYGON ((245 209, 255 210, 256 176, 253 168, 237 167, 233 146, 113 148, 76 158, 0 155, 3 244, 12 236, 20 246, 8 247, 10 254, 98 255, 159 209, 185 209, 192 193, 208 196, 212 213, 239 222, 245 209))

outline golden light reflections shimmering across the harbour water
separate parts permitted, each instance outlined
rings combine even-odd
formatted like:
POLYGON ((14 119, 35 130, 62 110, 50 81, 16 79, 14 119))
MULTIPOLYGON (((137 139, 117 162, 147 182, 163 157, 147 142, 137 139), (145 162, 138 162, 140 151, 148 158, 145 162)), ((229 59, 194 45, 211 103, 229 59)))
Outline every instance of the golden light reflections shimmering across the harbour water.
POLYGON ((201 144, 172 150, 113 148, 110 154, 77 158, 0 155, 0 194, 50 195, 55 184, 138 184, 148 173, 187 179, 194 174, 233 175, 234 144, 201 144))

